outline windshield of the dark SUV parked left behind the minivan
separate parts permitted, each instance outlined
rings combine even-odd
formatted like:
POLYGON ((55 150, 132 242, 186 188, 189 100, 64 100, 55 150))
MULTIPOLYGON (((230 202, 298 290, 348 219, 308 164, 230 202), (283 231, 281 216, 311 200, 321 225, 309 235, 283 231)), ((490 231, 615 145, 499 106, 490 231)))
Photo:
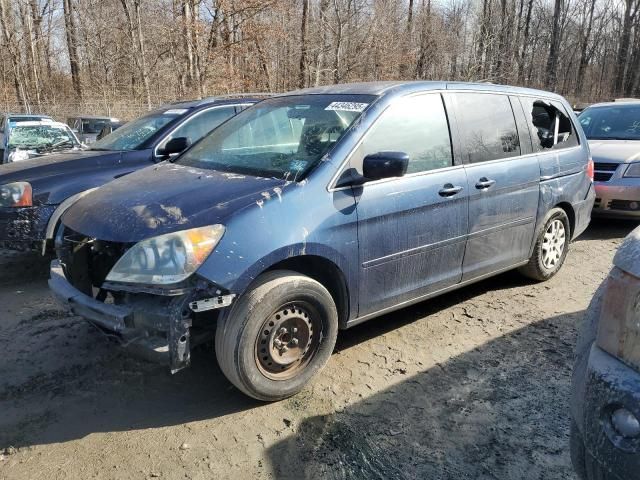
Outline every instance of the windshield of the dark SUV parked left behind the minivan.
POLYGON ((91 145, 91 150, 137 150, 158 130, 187 112, 186 109, 176 108, 150 113, 98 140, 91 145))

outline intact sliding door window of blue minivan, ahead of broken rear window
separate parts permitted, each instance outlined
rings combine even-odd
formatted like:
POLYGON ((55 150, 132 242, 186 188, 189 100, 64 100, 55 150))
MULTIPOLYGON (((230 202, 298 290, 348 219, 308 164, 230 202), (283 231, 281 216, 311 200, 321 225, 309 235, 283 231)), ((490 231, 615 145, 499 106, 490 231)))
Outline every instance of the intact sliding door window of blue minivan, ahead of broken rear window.
POLYGON ((507 95, 454 94, 461 143, 470 163, 520 155, 520 138, 507 95))

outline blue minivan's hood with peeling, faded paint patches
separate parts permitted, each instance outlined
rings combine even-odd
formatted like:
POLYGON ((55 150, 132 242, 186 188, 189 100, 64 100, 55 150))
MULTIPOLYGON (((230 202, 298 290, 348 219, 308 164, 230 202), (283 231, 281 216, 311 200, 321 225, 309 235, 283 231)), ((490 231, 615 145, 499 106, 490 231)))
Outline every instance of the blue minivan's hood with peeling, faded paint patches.
POLYGON ((81 198, 67 210, 62 222, 100 240, 138 242, 178 230, 224 224, 229 215, 255 205, 284 184, 284 180, 165 162, 81 198))

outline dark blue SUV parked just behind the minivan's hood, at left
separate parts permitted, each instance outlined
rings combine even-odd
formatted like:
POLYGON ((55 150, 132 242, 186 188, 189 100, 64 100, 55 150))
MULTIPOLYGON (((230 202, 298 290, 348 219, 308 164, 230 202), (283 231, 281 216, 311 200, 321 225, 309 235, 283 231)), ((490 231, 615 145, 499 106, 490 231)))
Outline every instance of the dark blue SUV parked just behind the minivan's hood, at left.
POLYGON ((84 151, 0 166, 0 248, 46 251, 62 213, 105 183, 195 143, 259 101, 214 97, 165 105, 133 120, 84 151))

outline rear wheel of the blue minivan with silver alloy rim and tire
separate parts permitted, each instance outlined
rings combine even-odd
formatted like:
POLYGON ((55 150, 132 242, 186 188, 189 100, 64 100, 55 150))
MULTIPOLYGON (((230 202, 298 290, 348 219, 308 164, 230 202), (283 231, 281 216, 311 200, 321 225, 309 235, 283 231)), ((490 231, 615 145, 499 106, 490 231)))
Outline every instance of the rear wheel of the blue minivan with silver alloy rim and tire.
POLYGON ((569 251, 570 239, 571 228, 567 214, 561 208, 552 209, 538 233, 529 263, 521 267, 520 272, 541 282, 550 279, 562 267, 569 251))

